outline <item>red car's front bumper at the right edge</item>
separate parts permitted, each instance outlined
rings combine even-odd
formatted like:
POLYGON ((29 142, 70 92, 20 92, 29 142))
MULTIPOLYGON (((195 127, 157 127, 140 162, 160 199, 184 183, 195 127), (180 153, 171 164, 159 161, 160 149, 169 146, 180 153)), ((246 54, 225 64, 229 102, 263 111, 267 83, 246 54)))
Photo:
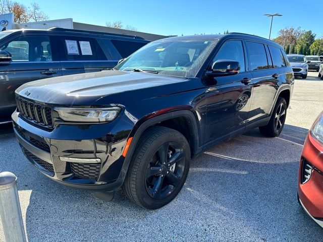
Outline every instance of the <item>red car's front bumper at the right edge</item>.
POLYGON ((299 167, 298 196, 305 211, 323 227, 323 147, 308 134, 299 167), (302 184, 303 162, 309 163, 313 168, 310 178, 302 184))

